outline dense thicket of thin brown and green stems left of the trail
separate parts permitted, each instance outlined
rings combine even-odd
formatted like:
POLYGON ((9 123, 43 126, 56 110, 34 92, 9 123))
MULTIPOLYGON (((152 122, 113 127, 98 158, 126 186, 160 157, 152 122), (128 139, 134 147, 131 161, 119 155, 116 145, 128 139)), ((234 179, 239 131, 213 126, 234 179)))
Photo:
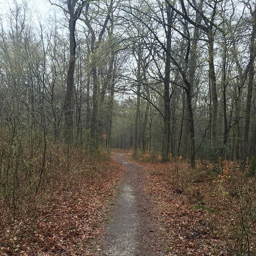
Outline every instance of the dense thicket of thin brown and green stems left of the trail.
POLYGON ((109 175, 102 168, 110 155, 106 150, 92 154, 83 146, 49 141, 45 154, 42 146, 30 154, 26 141, 16 137, 12 143, 0 143, 0 240, 2 232, 8 232, 10 240, 24 239, 25 229, 33 229, 36 204, 44 204, 48 195, 75 188, 81 180, 92 182, 109 175))

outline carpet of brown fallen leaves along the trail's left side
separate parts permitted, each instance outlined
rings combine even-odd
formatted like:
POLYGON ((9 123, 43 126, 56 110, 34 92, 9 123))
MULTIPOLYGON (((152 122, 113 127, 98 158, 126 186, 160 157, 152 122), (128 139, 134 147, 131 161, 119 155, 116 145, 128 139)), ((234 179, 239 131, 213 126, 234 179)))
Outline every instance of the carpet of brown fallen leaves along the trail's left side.
POLYGON ((107 173, 102 178, 88 179, 81 173, 72 185, 69 182, 67 189, 61 187, 35 198, 34 215, 21 223, 22 234, 9 238, 8 230, 1 230, 0 254, 95 255, 108 218, 109 200, 114 196, 114 187, 122 172, 114 161, 102 162, 101 169, 107 173))

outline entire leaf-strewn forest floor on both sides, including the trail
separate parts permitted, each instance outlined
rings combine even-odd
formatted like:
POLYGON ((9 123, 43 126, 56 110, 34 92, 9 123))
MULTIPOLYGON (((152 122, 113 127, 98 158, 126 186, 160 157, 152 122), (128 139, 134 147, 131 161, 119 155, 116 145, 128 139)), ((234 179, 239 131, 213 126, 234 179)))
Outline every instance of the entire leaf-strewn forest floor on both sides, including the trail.
POLYGON ((37 198, 33 219, 21 213, 15 232, 2 225, 0 255, 249 255, 238 246, 254 255, 255 179, 232 179, 228 168, 210 179, 186 162, 134 161, 122 151, 101 165, 100 176, 37 198))

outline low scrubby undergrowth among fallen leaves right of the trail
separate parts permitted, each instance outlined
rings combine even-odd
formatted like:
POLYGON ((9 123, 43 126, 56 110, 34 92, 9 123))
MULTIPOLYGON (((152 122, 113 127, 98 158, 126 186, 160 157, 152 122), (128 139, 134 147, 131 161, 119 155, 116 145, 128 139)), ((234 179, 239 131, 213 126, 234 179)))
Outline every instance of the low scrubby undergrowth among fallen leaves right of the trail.
MULTIPOLYGON (((190 248, 189 255, 208 255, 213 251, 213 255, 256 255, 254 176, 248 176, 236 162, 231 161, 219 161, 217 164, 198 162, 196 168, 191 169, 182 158, 171 159, 168 163, 150 162, 148 159, 149 156, 141 157, 140 162, 148 170, 150 190, 158 200, 159 211, 163 214, 161 208, 166 208, 165 224, 168 220, 172 223, 175 214, 181 214, 176 217, 176 224, 170 227, 170 232, 174 232, 175 225, 180 222, 178 218, 185 216, 190 223, 190 228, 184 227, 187 247, 192 240, 195 243, 198 230, 201 230, 200 236, 203 237, 209 232, 209 241, 205 241, 209 248, 200 249, 205 254, 190 248), (174 209, 172 204, 179 210, 174 209), (216 246, 218 250, 214 249, 216 246)), ((185 220, 182 220, 180 225, 184 223, 185 220)), ((204 246, 201 244, 204 238, 200 239, 197 248, 204 246)))

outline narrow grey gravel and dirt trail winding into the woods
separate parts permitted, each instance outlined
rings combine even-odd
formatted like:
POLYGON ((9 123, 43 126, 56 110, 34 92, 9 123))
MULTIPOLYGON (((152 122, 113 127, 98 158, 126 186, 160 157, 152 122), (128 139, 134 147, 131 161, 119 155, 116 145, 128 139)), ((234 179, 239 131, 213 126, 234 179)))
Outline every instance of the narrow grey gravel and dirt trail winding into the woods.
POLYGON ((125 173, 99 256, 164 255, 161 228, 143 191, 143 167, 126 159, 124 153, 116 156, 125 173))

